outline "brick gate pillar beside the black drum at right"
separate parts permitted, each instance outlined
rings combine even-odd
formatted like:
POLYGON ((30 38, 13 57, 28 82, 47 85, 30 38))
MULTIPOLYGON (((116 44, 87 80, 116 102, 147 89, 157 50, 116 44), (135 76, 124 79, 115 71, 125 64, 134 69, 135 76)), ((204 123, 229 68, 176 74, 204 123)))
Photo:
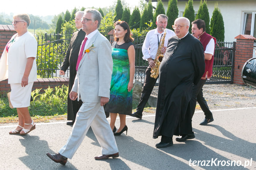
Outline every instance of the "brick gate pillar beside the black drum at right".
POLYGON ((256 38, 252 35, 238 35, 236 39, 236 55, 234 65, 234 84, 244 85, 241 72, 244 63, 253 56, 253 43, 256 38))

